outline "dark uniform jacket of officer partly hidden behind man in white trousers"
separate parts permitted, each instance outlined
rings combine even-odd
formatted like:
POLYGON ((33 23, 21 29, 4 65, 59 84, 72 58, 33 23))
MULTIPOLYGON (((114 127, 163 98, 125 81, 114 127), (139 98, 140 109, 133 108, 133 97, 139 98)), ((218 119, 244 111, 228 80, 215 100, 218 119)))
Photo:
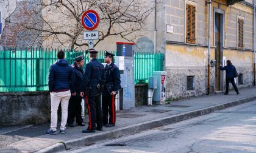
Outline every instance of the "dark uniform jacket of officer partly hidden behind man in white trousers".
POLYGON ((74 73, 76 75, 76 83, 75 83, 76 95, 80 97, 81 83, 83 80, 84 69, 82 69, 82 67, 77 66, 76 61, 74 61, 74 63, 71 66, 73 67, 74 73))

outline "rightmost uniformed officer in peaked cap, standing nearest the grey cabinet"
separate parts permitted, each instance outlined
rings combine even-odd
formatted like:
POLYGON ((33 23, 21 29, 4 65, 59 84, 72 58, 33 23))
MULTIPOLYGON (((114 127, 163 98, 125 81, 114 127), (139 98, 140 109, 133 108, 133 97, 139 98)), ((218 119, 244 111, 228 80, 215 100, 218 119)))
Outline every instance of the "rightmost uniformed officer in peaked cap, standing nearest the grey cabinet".
POLYGON ((113 53, 105 51, 105 86, 102 92, 103 125, 113 127, 116 124, 115 97, 121 89, 120 73, 118 67, 112 63, 113 53), (108 121, 109 114, 109 121, 108 121))

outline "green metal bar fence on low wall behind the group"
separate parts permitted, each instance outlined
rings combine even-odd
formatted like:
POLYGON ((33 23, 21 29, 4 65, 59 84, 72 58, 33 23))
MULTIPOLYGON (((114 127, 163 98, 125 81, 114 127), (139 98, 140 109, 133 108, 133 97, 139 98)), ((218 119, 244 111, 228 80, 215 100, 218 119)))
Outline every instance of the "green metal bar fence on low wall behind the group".
MULTIPOLYGON (((72 64, 76 56, 89 55, 85 50, 64 50, 72 64)), ((0 92, 48 90, 49 67, 57 60, 58 49, 4 49, 0 51, 0 92)), ((115 53, 116 52, 112 52, 115 53)), ((104 63, 104 51, 98 60, 104 63)), ((148 83, 154 70, 162 70, 163 53, 135 53, 135 83, 148 83)))

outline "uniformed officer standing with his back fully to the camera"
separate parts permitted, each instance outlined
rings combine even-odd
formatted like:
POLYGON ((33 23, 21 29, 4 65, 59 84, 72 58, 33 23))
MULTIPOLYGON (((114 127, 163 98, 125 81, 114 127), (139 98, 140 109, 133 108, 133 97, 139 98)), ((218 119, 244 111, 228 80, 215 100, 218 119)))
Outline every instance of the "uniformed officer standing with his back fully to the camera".
POLYGON ((95 130, 102 131, 102 108, 101 94, 105 83, 105 72, 103 64, 97 60, 98 51, 89 49, 90 62, 85 66, 80 95, 85 98, 88 108, 89 123, 83 133, 93 133, 95 130), (96 127, 97 123, 97 127, 96 127))

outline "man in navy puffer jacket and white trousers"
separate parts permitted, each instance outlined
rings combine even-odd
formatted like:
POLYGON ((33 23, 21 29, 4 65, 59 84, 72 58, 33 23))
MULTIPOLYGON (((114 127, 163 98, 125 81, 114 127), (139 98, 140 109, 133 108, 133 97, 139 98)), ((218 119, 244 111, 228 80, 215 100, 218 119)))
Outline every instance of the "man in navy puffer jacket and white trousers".
POLYGON ((65 60, 65 53, 60 50, 57 53, 58 60, 51 65, 49 70, 48 85, 51 95, 51 128, 46 134, 57 134, 57 110, 61 102, 62 123, 60 125, 60 134, 65 134, 66 120, 68 118, 68 100, 76 95, 74 82, 76 76, 73 68, 65 60))

